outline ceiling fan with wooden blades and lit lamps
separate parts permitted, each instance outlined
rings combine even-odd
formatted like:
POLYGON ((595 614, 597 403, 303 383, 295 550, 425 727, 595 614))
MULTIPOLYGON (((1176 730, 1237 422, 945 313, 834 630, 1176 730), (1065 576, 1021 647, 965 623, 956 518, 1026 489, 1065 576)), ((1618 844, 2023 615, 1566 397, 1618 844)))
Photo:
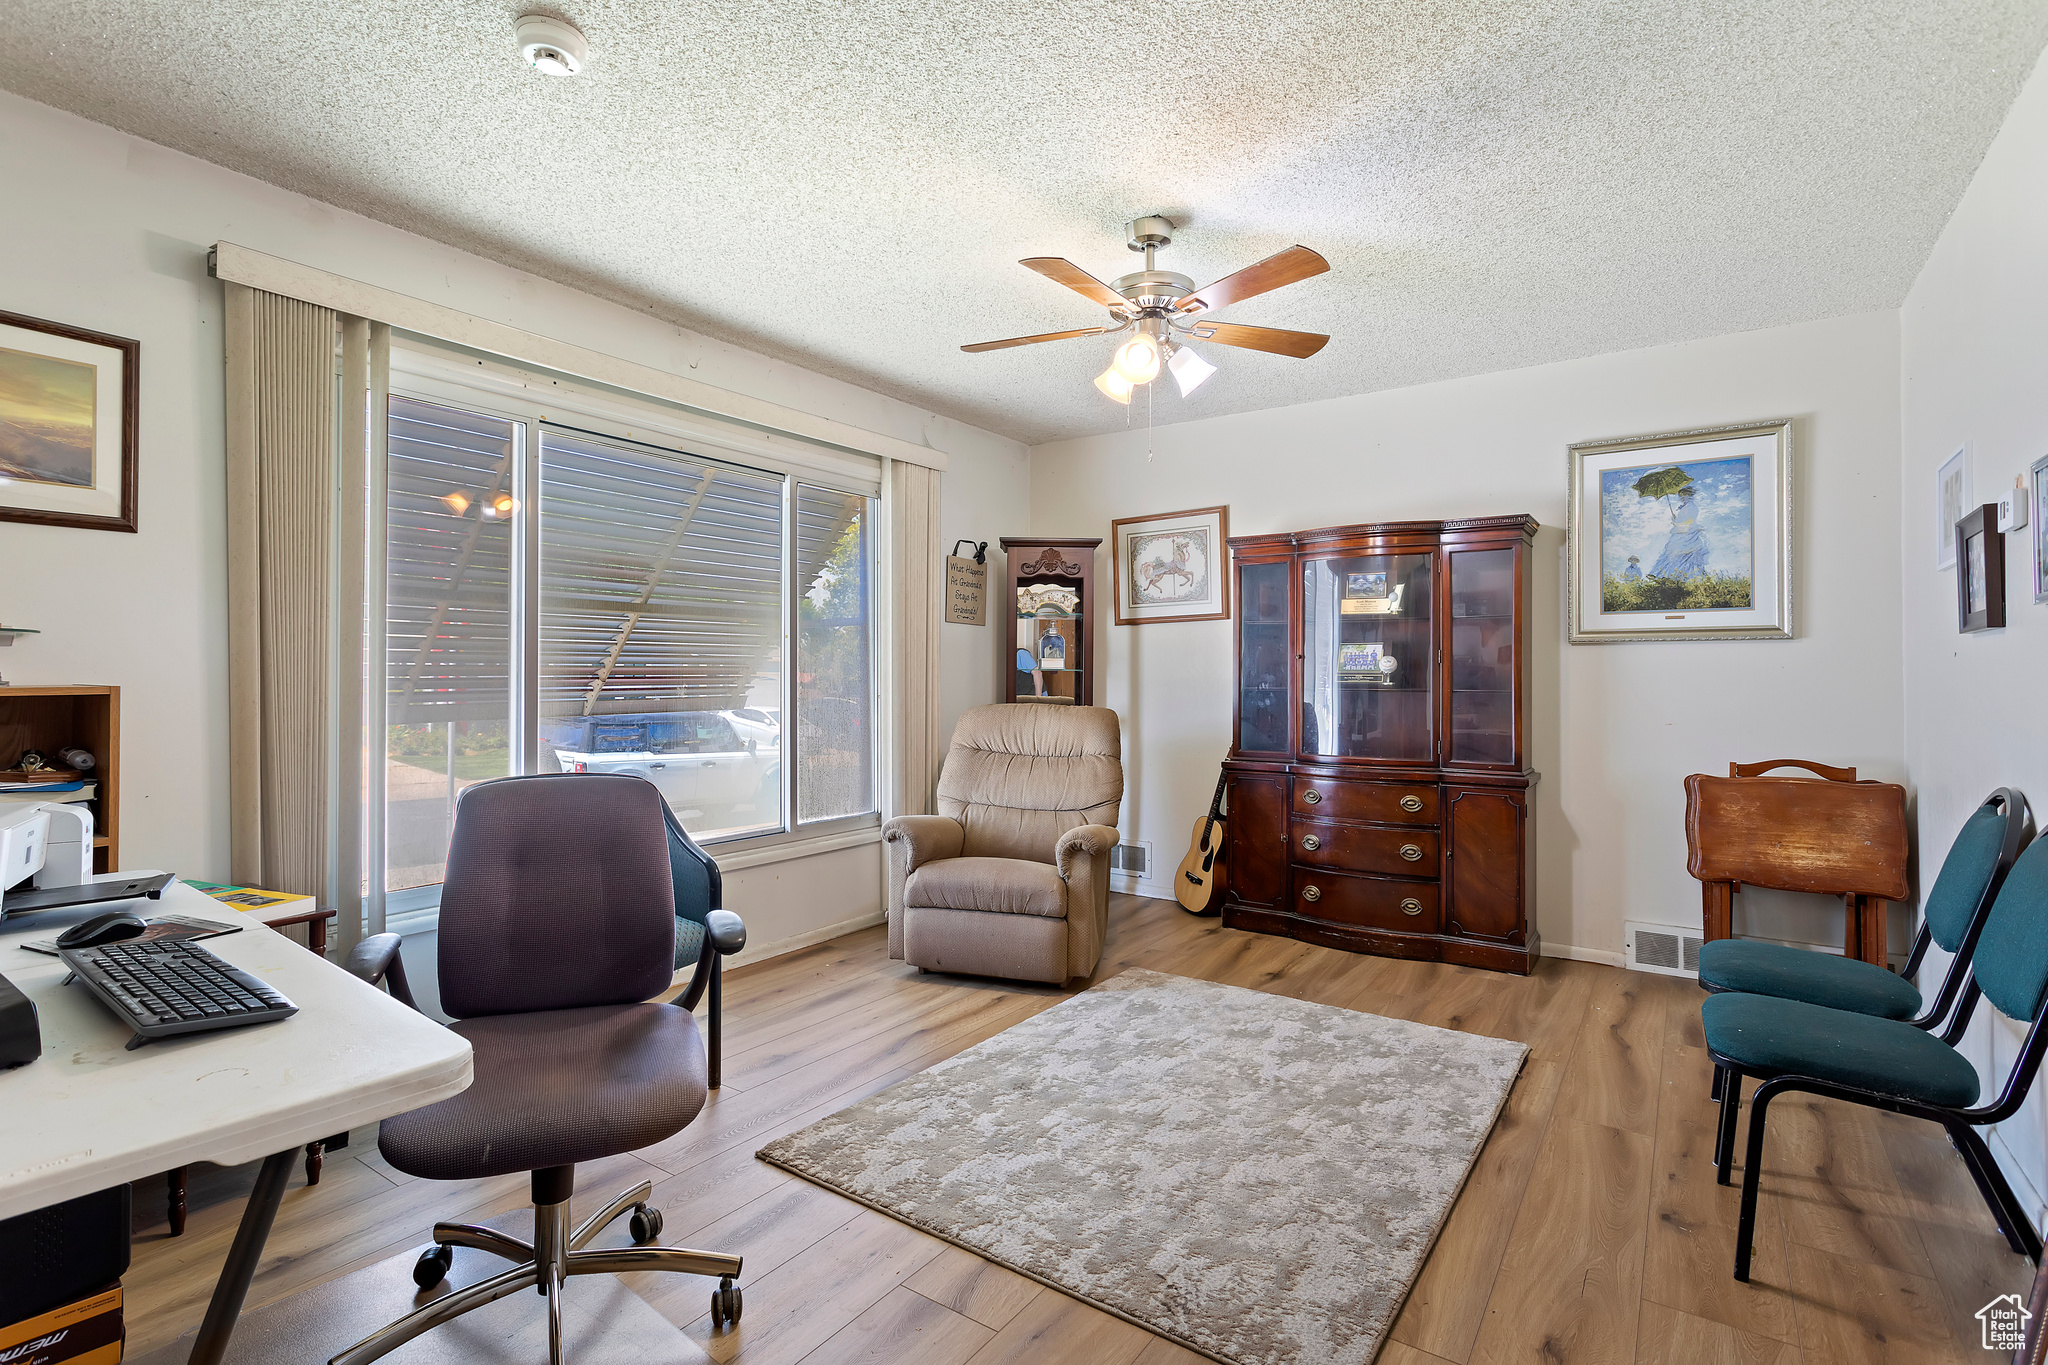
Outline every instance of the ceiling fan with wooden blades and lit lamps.
POLYGON ((1008 346, 1032 346, 1036 342, 1065 342, 1075 336, 1116 336, 1137 327, 1137 336, 1116 348, 1110 368, 1096 377, 1096 387, 1118 403, 1128 403, 1137 385, 1149 385, 1159 377, 1159 366, 1174 375, 1182 397, 1194 393, 1196 385, 1217 372, 1208 360, 1184 346, 1176 334, 1217 342, 1219 346, 1241 346, 1243 350, 1264 350, 1276 356, 1307 360, 1329 342, 1319 332, 1286 332, 1284 327, 1247 327, 1243 323, 1200 319, 1210 309, 1270 293, 1294 280, 1329 270, 1329 262, 1305 246, 1290 246, 1284 252, 1227 274, 1214 284, 1196 289, 1186 274, 1153 270, 1153 252, 1174 239, 1174 225, 1163 217, 1143 217, 1130 223, 1130 250, 1145 252, 1145 268, 1118 276, 1104 284, 1087 270, 1059 256, 1032 256, 1020 266, 1036 270, 1055 284, 1065 284, 1083 299, 1110 309, 1114 325, 1075 327, 1073 332, 1040 332, 1038 336, 1014 336, 1004 342, 977 342, 963 346, 965 352, 1004 350, 1008 346))

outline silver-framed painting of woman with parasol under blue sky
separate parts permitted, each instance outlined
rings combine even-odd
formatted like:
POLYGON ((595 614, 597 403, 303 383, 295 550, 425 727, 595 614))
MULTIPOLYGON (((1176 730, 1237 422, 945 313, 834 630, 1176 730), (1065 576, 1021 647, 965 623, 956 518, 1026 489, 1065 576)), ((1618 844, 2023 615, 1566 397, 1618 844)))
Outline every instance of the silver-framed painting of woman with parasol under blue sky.
POLYGON ((1569 450, 1571 643, 1792 639, 1792 420, 1569 450))

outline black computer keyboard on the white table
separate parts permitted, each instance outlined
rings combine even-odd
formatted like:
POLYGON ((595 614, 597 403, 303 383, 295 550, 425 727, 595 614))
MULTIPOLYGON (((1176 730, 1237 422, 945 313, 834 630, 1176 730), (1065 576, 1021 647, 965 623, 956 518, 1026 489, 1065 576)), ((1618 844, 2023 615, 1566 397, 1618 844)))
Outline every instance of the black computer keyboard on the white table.
POLYGON ((152 1038, 270 1023, 299 1013, 268 982, 227 966, 186 939, 66 948, 57 956, 106 1009, 135 1029, 129 1050, 152 1038))

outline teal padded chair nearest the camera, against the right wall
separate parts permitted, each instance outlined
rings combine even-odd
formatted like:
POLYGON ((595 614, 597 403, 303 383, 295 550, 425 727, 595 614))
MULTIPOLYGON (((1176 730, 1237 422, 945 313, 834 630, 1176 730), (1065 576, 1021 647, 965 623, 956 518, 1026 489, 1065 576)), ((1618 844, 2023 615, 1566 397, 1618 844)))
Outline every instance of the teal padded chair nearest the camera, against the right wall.
POLYGON ((1804 1001, 1767 995, 1712 995, 1700 1007, 1706 1050, 1726 1081, 1720 1095, 1718 1179, 1729 1183, 1729 1148, 1741 1105, 1743 1076, 1763 1085, 1749 1109, 1749 1146, 1743 1156, 1743 1214, 1735 1232, 1735 1277, 1749 1279, 1749 1250, 1757 1222, 1757 1183, 1763 1166, 1763 1124, 1772 1099, 1806 1091, 1874 1109, 1929 1119, 1948 1130, 1991 1205, 1999 1230, 2015 1252, 2042 1259, 2042 1242, 2019 1199, 1999 1173, 1980 1124, 2001 1124, 2019 1111, 2048 1050, 2048 839, 2036 839, 2013 864, 1985 921, 1970 980, 1956 1013, 1937 1038, 1901 1019, 1878 1019, 1804 1001), (1970 1027, 1976 1001, 1987 999, 2009 1019, 2032 1027, 2005 1087, 1978 1105, 1976 1066, 1956 1052, 1970 1027))

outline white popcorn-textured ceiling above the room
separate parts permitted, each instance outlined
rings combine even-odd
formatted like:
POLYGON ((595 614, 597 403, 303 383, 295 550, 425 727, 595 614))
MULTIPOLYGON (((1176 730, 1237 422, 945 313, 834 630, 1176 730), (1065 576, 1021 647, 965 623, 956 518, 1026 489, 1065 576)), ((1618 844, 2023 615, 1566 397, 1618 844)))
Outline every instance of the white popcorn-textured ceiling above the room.
MULTIPOLYGON (((1894 307, 2042 0, 10 0, 0 86, 1040 442, 1124 426, 1030 274, 1331 272, 1159 422, 1894 307), (512 18, 590 39, 532 74, 512 18)), ((254 244, 260 246, 260 244, 254 244)), ((1143 422, 1143 399, 1137 413, 1143 422)))

